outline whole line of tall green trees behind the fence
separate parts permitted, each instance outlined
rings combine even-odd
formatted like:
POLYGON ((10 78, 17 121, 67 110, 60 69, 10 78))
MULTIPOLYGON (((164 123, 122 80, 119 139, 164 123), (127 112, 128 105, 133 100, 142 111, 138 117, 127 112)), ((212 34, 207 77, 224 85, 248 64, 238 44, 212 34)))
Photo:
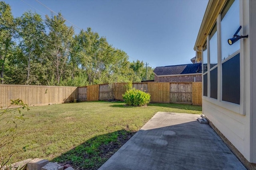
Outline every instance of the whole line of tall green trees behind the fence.
POLYGON ((154 79, 143 61, 108 44, 89 27, 75 34, 61 13, 24 12, 14 18, 0 1, 0 82, 2 84, 85 86, 154 79))

